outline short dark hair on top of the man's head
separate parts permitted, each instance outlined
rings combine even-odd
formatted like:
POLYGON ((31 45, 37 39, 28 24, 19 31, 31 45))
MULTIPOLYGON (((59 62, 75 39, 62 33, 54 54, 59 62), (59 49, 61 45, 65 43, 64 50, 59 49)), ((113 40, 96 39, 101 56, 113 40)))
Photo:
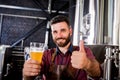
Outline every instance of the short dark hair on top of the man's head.
POLYGON ((70 22, 67 16, 65 15, 57 15, 53 17, 50 21, 50 25, 59 23, 59 22, 66 22, 68 26, 70 26, 70 22))

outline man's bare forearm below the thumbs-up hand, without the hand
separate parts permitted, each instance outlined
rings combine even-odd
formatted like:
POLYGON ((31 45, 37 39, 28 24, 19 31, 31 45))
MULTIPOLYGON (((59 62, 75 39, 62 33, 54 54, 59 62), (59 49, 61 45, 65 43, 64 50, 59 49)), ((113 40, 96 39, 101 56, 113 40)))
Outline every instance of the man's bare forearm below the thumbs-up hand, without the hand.
POLYGON ((91 77, 99 77, 101 75, 100 64, 95 59, 89 59, 88 66, 85 70, 91 77))

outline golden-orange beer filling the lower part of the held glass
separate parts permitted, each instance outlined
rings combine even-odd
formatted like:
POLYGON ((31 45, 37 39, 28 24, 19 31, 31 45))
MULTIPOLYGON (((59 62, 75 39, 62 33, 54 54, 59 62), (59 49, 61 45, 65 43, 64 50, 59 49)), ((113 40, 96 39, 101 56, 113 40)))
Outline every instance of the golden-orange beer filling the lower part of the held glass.
POLYGON ((31 59, 33 59, 33 60, 36 60, 36 61, 38 61, 39 63, 41 63, 41 61, 42 61, 42 56, 43 56, 43 52, 35 52, 35 51, 31 51, 30 52, 30 57, 31 57, 31 59))

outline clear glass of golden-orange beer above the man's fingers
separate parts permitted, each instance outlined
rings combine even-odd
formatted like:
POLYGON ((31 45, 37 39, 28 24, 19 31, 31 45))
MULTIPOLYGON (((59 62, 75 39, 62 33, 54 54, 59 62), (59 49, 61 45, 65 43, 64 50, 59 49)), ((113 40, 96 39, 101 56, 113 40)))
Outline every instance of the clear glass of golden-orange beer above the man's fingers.
POLYGON ((44 52, 44 43, 30 42, 30 58, 41 63, 44 52))

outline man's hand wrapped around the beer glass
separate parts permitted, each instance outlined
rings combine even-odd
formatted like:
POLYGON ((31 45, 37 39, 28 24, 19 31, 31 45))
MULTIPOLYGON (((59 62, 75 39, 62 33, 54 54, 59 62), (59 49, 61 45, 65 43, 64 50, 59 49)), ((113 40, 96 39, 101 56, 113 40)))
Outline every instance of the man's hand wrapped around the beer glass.
POLYGON ((24 63, 23 76, 36 76, 39 74, 40 68, 39 62, 29 59, 24 63))

